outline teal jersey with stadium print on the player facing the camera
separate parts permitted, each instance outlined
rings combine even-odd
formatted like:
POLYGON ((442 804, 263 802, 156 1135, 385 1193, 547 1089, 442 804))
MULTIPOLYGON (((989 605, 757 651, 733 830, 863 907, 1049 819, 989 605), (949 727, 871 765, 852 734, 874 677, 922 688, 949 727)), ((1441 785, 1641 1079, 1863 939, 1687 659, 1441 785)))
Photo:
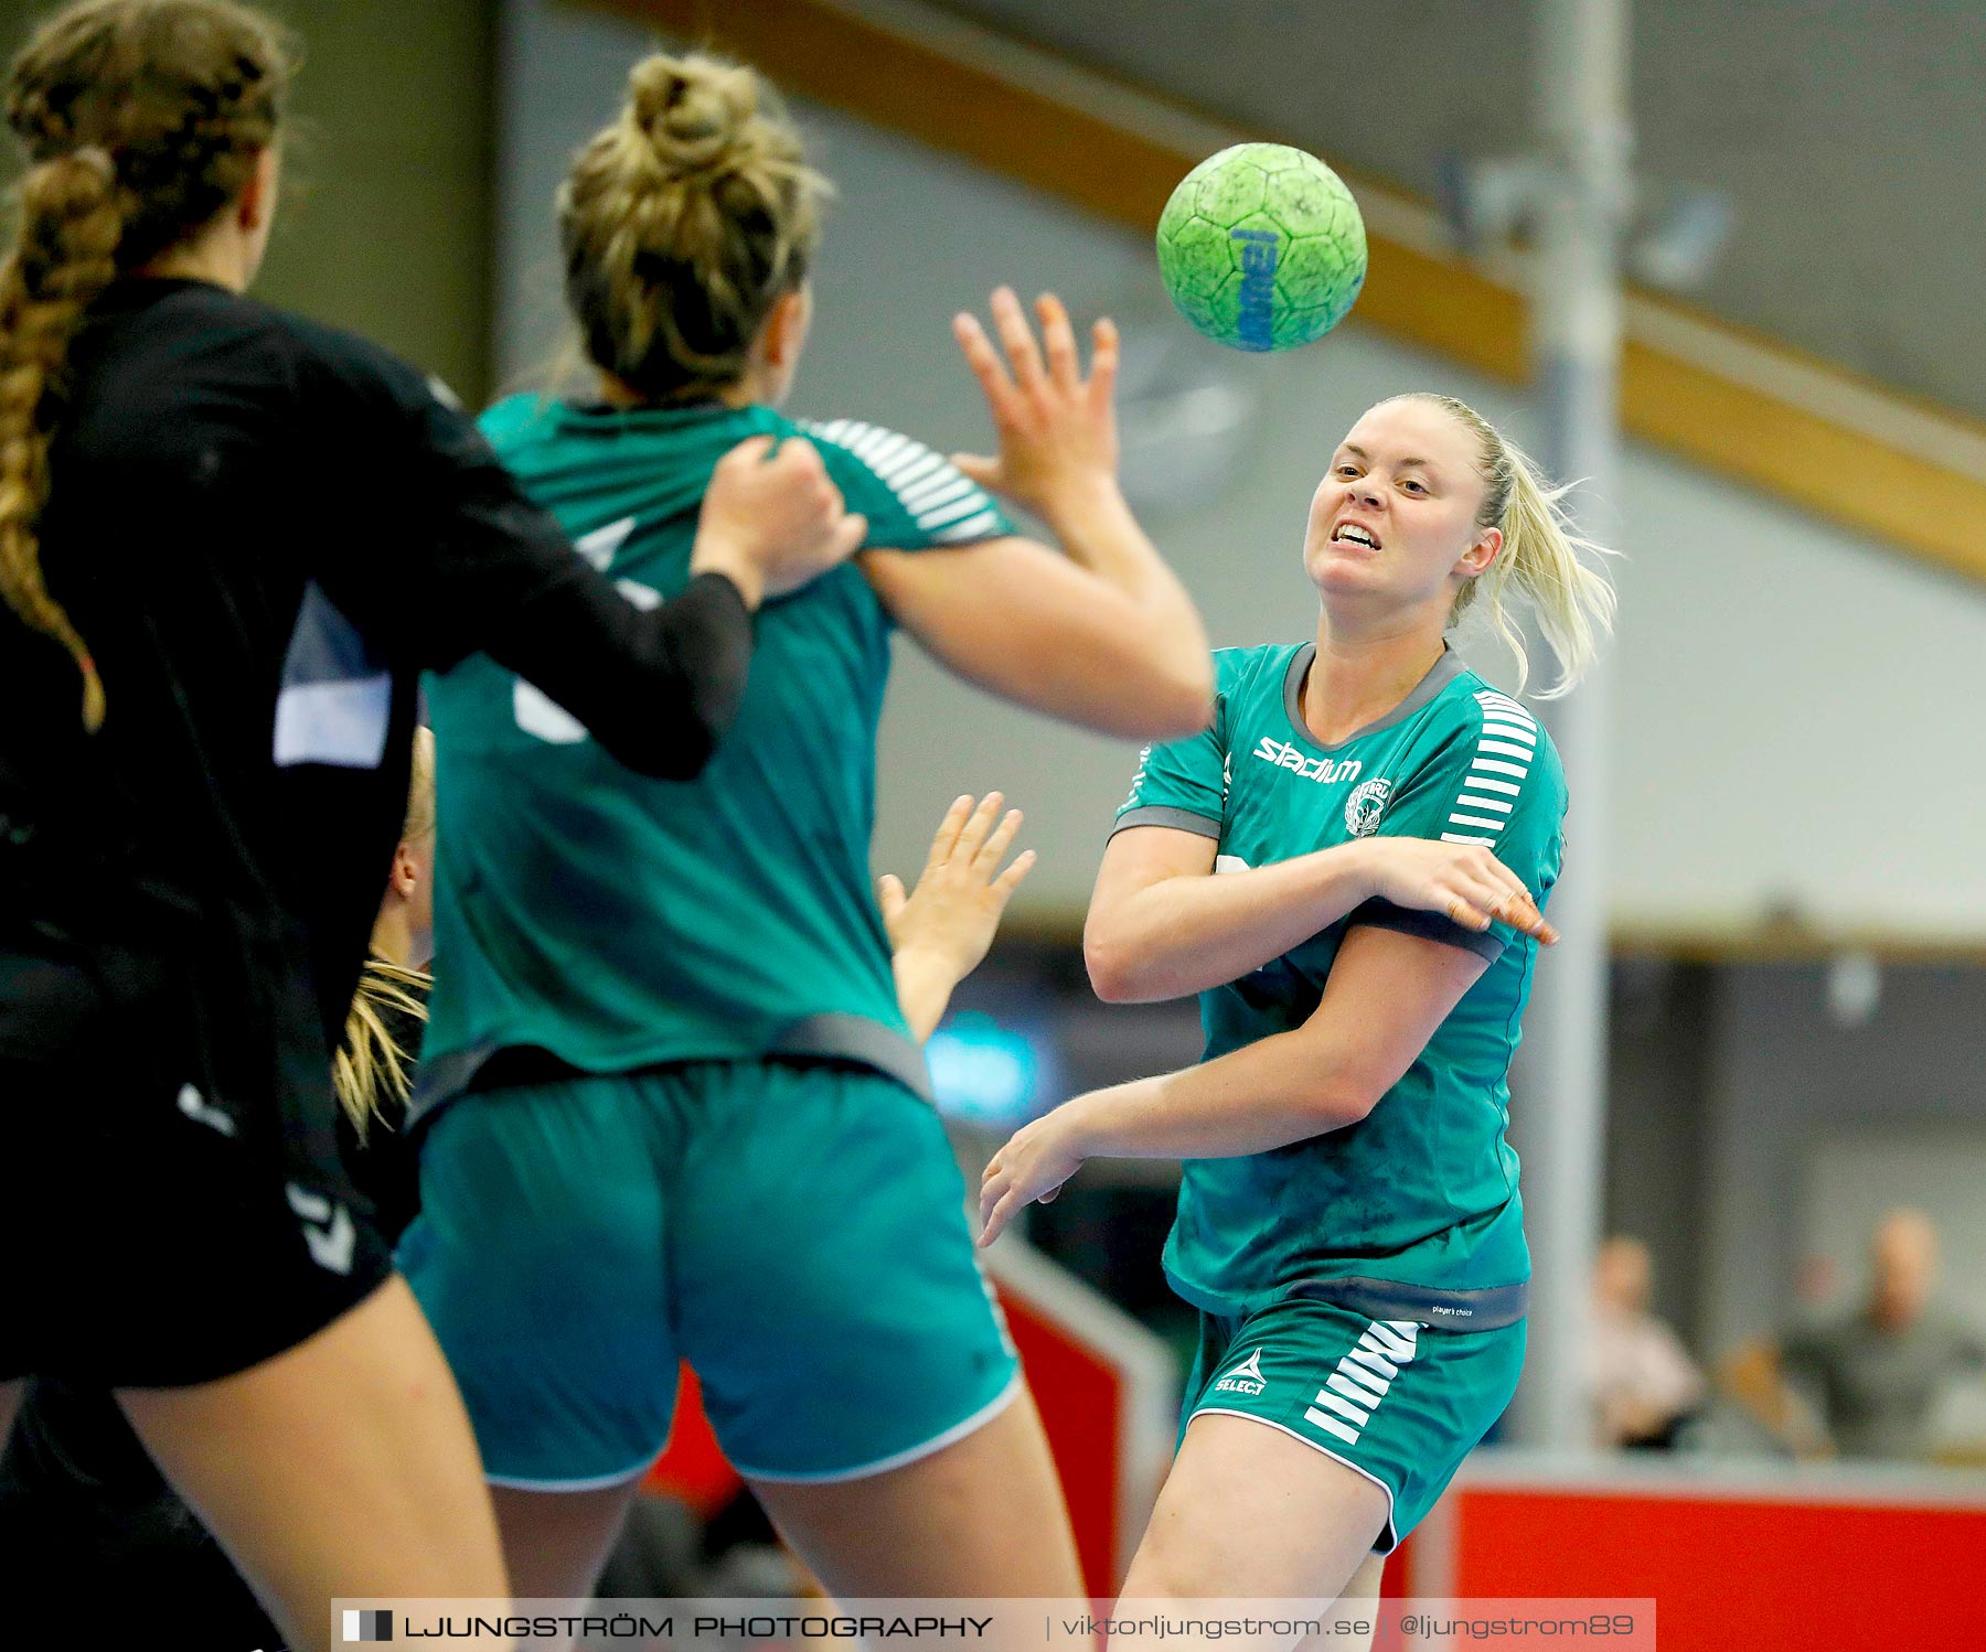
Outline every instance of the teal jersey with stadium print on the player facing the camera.
MULTIPOLYGON (((1215 876, 1372 834, 1484 844, 1543 905, 1559 876, 1565 778, 1531 713, 1444 655, 1390 715, 1323 747, 1301 711, 1313 653, 1221 649, 1213 725, 1144 753, 1118 830, 1211 838, 1215 876)), ((1529 935, 1368 901, 1202 993, 1202 1058, 1301 1027, 1360 923, 1466 947, 1488 969, 1358 1124, 1186 1164, 1166 1275, 1207 1312, 1253 1312, 1317 1279, 1480 1289, 1529 1277, 1517 1156, 1503 1140, 1537 957, 1529 935)))

